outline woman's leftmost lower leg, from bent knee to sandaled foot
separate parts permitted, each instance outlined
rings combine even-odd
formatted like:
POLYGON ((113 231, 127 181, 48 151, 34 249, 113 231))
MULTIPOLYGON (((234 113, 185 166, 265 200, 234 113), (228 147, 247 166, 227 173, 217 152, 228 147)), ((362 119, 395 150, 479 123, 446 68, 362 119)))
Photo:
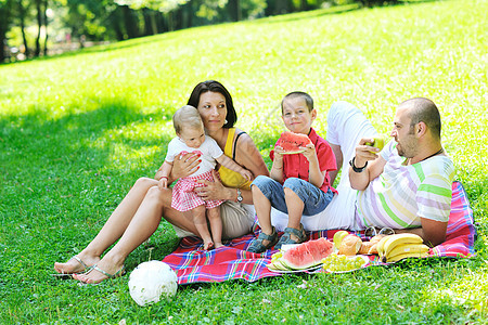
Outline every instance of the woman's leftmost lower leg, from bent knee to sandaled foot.
MULTIPOLYGON (((136 211, 138 211, 138 208, 141 206, 141 203, 147 194, 147 191, 155 185, 157 185, 157 181, 149 178, 141 178, 136 181, 136 184, 114 210, 99 234, 84 250, 81 250, 80 253, 78 253, 81 261, 91 266, 100 260, 100 257, 105 249, 120 238, 127 230, 136 211)), ((66 263, 54 263, 54 270, 57 273, 69 274, 82 272, 84 268, 79 262, 72 259, 66 263)))

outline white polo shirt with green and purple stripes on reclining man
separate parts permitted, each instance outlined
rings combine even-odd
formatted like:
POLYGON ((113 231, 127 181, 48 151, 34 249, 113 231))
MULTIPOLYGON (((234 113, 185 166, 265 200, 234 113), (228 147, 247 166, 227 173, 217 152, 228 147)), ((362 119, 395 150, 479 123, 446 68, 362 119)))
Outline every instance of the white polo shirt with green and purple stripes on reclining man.
POLYGON ((391 229, 416 227, 421 218, 447 222, 451 210, 454 166, 447 156, 434 156, 404 166, 396 142, 380 154, 383 173, 364 191, 358 191, 357 223, 391 229))

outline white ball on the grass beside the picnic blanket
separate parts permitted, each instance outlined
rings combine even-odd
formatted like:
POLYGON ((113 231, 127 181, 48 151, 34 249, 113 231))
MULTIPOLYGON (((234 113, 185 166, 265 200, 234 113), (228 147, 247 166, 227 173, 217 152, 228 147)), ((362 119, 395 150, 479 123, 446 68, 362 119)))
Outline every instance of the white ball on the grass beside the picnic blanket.
POLYGON ((177 275, 162 261, 149 261, 139 264, 129 277, 130 297, 139 304, 158 302, 160 298, 170 298, 178 289, 177 275))

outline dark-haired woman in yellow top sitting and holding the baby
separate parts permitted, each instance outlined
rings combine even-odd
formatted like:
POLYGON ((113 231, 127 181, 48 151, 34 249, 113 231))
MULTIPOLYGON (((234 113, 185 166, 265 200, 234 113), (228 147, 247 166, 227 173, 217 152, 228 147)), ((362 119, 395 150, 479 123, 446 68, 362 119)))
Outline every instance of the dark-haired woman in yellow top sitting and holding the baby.
MULTIPOLYGON (((237 117, 232 98, 220 82, 208 80, 198 83, 188 104, 196 107, 207 134, 217 141, 226 155, 251 170, 254 177, 268 176, 266 164, 251 136, 233 128, 237 117)), ((175 159, 169 182, 190 176, 198 164, 198 156, 191 153, 175 159)), ((239 237, 251 231, 254 221, 254 211, 247 206, 253 203, 251 182, 223 168, 219 173, 221 182, 203 181, 206 186, 201 187, 197 194, 203 199, 227 200, 220 210, 222 237, 239 237)), ((160 177, 158 171, 155 179, 136 181, 93 240, 66 263, 54 263, 54 270, 60 274, 73 274, 84 283, 100 283, 120 276, 127 256, 156 231, 162 217, 175 226, 180 237, 197 234, 192 220, 171 208, 171 188, 157 186, 160 177), (105 249, 115 242, 117 244, 101 259, 105 249)))

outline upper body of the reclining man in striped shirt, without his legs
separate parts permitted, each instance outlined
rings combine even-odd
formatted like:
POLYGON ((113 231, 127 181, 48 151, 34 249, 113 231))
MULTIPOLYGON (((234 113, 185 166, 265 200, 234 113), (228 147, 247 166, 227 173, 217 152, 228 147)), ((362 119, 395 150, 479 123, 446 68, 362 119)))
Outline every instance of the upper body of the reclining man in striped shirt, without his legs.
POLYGON ((349 167, 350 185, 359 191, 358 224, 415 233, 431 245, 445 242, 454 168, 444 153, 440 126, 434 102, 412 99, 398 106, 395 142, 381 154, 365 145, 371 140, 360 140, 349 167))

